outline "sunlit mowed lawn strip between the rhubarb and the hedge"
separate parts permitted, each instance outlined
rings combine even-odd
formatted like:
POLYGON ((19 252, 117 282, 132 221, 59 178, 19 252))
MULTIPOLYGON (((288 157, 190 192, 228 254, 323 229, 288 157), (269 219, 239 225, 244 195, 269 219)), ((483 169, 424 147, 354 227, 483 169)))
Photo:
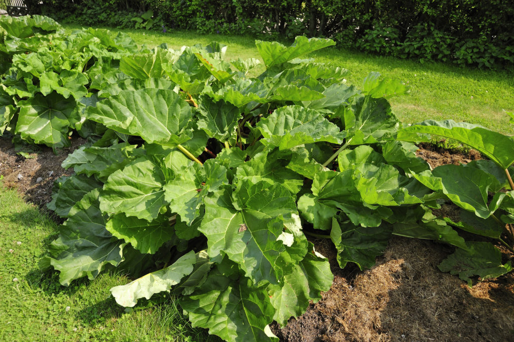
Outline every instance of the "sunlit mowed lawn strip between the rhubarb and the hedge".
MULTIPOLYGON (((65 25, 71 31, 79 26, 65 25)), ((255 40, 246 36, 198 34, 187 31, 161 33, 145 30, 122 30, 138 44, 152 48, 168 43, 171 48, 208 44, 217 41, 228 45, 227 59, 259 56, 255 40)), ((311 54, 319 62, 348 69, 348 83, 360 86, 371 71, 383 77, 399 79, 410 86, 410 93, 390 99, 401 121, 415 123, 427 119, 465 121, 480 124, 503 134, 513 135, 505 110, 514 110, 514 74, 507 71, 461 68, 444 63, 407 61, 329 47, 311 54)), ((262 60, 261 60, 262 61, 262 60)), ((257 75, 261 65, 253 70, 257 75)))

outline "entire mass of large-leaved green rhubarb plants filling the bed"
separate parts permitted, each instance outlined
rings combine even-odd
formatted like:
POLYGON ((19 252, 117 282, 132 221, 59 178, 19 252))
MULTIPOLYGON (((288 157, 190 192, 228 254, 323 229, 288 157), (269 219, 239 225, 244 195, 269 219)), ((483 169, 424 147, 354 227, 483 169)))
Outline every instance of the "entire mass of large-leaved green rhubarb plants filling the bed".
POLYGON ((44 17, 0 25, 11 131, 54 147, 74 129, 89 137, 49 203, 66 221, 41 267, 65 286, 122 270, 135 280, 111 289, 120 305, 171 291, 194 326, 262 341, 332 284, 313 238, 334 244, 341 268, 372 267, 400 235, 455 246, 439 268, 470 285, 512 270, 493 243, 514 243, 514 140, 453 121, 402 125, 387 99, 405 84, 371 73, 357 89, 346 70, 301 59, 332 40, 256 41, 266 70, 249 78, 259 60, 227 62, 218 43, 136 50, 105 30, 60 35, 44 17), (432 170, 413 144, 431 135, 489 160, 432 170), (459 220, 432 214, 444 201, 459 220))

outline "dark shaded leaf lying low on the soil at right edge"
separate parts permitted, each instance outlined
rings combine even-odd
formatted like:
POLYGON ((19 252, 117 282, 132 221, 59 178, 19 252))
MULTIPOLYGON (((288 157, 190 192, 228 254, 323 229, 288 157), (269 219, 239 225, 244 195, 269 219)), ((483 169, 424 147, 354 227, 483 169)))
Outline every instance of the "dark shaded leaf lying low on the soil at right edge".
POLYGON ((439 270, 450 272, 467 281, 471 287, 472 276, 482 279, 496 278, 512 271, 510 261, 502 263, 502 252, 489 242, 468 242, 468 251, 457 248, 455 253, 438 265, 439 270))

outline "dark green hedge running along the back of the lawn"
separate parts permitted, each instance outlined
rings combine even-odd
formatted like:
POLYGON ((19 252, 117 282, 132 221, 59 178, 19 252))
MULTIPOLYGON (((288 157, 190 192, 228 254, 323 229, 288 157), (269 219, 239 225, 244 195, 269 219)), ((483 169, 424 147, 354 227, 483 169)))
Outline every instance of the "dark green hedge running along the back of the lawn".
POLYGON ((41 9, 60 21, 117 28, 134 27, 133 18, 148 10, 154 29, 322 36, 421 62, 514 65, 514 6, 502 0, 50 0, 41 9))

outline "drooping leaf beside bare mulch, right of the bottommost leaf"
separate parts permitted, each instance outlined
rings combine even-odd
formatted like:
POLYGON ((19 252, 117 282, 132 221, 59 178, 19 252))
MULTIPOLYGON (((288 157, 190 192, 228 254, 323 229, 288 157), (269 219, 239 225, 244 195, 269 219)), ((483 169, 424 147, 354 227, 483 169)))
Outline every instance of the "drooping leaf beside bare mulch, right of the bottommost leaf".
POLYGON ((321 299, 321 291, 328 291, 334 275, 327 259, 318 257, 310 244, 311 253, 285 275, 281 284, 270 285, 268 293, 275 308, 273 319, 285 326, 289 318, 305 313, 309 302, 321 299))

